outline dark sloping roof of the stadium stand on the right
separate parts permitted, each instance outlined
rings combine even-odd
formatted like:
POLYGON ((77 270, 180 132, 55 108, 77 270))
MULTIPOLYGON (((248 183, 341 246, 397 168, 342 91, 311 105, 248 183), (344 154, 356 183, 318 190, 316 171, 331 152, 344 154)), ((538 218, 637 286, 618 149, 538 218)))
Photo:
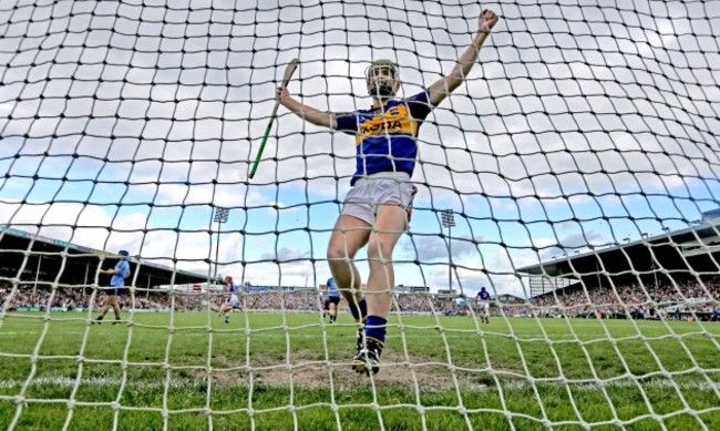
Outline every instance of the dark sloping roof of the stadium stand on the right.
MULTIPOLYGON (((523 276, 575 278, 589 285, 599 283, 598 277, 623 278, 690 274, 718 275, 720 273, 720 219, 703 220, 681 230, 648 236, 586 253, 563 255, 551 261, 517 269, 523 276)), ((627 281, 627 280, 626 280, 627 281)))

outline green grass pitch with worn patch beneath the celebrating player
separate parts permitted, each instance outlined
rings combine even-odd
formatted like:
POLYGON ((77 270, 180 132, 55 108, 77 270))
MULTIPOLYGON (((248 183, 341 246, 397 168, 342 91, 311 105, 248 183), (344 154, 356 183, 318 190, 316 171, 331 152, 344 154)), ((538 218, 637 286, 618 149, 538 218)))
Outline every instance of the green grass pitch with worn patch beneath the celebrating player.
POLYGON ((390 324, 371 379, 348 316, 8 314, 0 429, 720 429, 719 324, 390 324))

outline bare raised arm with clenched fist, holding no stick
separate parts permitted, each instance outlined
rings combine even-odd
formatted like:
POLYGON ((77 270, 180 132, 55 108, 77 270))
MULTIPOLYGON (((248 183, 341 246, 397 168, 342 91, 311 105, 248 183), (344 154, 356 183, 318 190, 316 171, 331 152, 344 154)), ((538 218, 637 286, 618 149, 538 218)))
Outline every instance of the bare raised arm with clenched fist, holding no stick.
POLYGON ((477 61, 480 49, 485 43, 493 27, 497 23, 497 16, 490 9, 485 9, 477 19, 477 32, 473 37, 473 42, 463 51, 457 59, 455 66, 445 78, 438 80, 428 89, 429 101, 434 105, 445 100, 450 93, 462 84, 473 65, 477 61))

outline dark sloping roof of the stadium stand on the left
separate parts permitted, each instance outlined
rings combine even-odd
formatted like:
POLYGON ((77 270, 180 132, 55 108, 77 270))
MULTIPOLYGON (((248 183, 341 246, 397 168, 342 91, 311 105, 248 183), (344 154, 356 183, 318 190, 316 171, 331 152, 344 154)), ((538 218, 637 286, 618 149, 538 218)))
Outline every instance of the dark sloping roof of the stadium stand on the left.
MULTIPOLYGON (((18 277, 24 283, 90 285, 94 283, 97 266, 105 259, 106 268, 114 265, 117 254, 83 247, 60 239, 34 235, 13 227, 0 227, 0 277, 18 277), (107 263, 110 259, 110 263, 107 263)), ((131 257, 132 278, 136 287, 184 285, 207 281, 208 277, 186 270, 131 257), (137 274, 135 274, 137 271, 137 274)), ((105 277, 105 276, 103 276, 105 277)), ((103 277, 99 280, 104 284, 103 277)))

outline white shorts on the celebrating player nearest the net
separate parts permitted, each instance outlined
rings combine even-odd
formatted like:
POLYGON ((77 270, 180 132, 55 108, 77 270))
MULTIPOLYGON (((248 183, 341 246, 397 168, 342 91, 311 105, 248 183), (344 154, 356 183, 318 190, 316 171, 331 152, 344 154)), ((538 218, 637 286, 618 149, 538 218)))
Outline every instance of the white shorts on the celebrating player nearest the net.
POLYGON ((410 218, 415 193, 418 187, 410 182, 410 175, 404 172, 368 175, 358 179, 348 192, 342 205, 342 214, 374 225, 381 205, 397 202, 408 209, 408 218, 410 218))

